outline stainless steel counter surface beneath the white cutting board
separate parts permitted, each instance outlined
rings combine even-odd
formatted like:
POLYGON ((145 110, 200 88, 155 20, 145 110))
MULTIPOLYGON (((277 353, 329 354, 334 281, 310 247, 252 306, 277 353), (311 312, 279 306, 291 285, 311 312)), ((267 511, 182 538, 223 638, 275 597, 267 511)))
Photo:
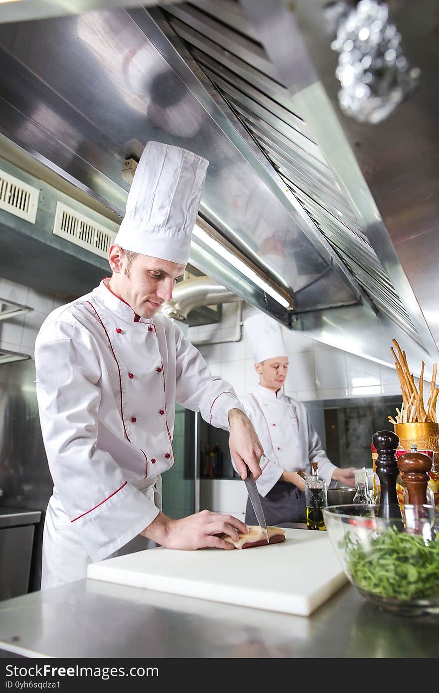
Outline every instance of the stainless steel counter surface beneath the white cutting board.
POLYGON ((437 658, 438 626, 351 586, 310 617, 89 579, 0 602, 0 650, 27 657, 437 658))

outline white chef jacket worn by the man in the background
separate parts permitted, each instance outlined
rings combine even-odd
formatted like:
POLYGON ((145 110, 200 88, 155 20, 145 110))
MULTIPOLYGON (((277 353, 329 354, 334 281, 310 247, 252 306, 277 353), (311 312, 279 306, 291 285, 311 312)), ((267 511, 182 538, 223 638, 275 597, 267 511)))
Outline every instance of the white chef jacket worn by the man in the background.
POLYGON ((262 385, 240 400, 264 448, 256 482, 263 498, 284 471, 311 473, 311 462, 318 462, 318 475, 329 487, 336 466, 329 462, 302 402, 262 385))

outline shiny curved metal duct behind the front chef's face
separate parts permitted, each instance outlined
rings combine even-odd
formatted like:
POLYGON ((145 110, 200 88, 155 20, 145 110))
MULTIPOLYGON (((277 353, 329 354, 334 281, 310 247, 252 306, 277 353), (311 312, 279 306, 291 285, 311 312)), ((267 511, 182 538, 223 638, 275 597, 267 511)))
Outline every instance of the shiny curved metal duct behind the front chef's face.
POLYGON ((191 310, 200 306, 213 306, 239 301, 232 291, 226 289, 209 277, 194 277, 181 281, 175 286, 172 301, 166 301, 161 312, 166 317, 183 322, 191 310))

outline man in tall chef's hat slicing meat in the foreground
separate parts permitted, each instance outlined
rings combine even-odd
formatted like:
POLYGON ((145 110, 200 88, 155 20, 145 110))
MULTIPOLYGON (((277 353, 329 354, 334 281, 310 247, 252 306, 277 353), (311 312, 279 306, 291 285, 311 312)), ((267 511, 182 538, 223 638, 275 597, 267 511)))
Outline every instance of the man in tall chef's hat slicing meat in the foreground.
POLYGON ((53 495, 44 522, 42 588, 86 576, 87 564, 141 535, 142 548, 230 550, 247 527, 203 511, 161 511, 174 462, 175 401, 230 430, 241 477, 261 474, 261 444, 230 383, 212 376, 178 325, 156 311, 189 258, 208 162, 150 141, 108 259, 112 276, 53 310, 35 342, 37 400, 53 495), (246 464, 244 464, 246 463, 246 464))

